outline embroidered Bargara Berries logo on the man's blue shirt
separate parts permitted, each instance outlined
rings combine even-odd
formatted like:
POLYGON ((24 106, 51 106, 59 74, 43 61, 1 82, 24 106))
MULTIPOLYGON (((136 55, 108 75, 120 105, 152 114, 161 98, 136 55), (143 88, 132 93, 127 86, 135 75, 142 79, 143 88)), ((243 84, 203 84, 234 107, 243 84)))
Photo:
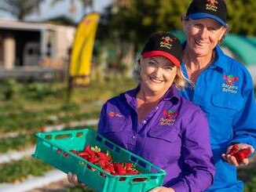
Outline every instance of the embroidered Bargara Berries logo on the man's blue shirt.
POLYGON ((222 83, 221 88, 222 88, 222 92, 231 92, 231 93, 236 93, 238 86, 234 85, 235 82, 239 81, 238 77, 235 77, 232 74, 229 75, 224 75, 223 79, 225 80, 224 83, 222 83))

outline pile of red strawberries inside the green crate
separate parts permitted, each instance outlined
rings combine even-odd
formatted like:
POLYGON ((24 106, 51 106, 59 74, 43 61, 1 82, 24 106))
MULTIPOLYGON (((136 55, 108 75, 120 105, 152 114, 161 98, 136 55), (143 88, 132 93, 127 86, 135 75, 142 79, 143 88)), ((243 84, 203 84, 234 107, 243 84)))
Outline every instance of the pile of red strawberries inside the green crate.
MULTIPOLYGON (((99 166, 104 169, 105 172, 109 172, 112 175, 120 176, 120 175, 135 175, 141 174, 132 163, 130 162, 122 162, 117 163, 112 160, 111 155, 107 151, 104 153, 101 151, 99 147, 90 147, 87 145, 86 148, 82 151, 70 150, 73 154, 79 155, 81 158, 86 159, 90 163, 99 166)), ((95 171, 90 165, 87 165, 88 168, 95 171)), ((104 173, 101 173, 101 176, 105 176, 104 173)), ((141 181, 144 178, 137 178, 137 181, 141 181)))

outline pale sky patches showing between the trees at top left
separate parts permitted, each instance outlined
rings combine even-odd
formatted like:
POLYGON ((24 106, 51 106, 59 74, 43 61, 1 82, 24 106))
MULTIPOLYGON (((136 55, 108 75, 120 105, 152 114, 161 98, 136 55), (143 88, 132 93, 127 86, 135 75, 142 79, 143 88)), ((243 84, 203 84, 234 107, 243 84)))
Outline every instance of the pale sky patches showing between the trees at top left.
MULTIPOLYGON (((49 18, 53 18, 55 16, 67 16, 68 14, 68 16, 71 16, 71 18, 73 18, 75 21, 79 21, 82 19, 82 16, 84 15, 82 5, 77 0, 75 0, 77 11, 74 14, 69 13, 70 0, 63 0, 62 2, 57 2, 57 4, 55 4, 54 6, 50 5, 50 2, 52 2, 52 0, 45 0, 45 2, 42 2, 42 4, 40 5, 40 15, 32 14, 31 16, 28 16, 26 19, 46 20, 49 18)), ((109 5, 112 2, 112 0, 93 0, 93 2, 94 11, 101 13, 104 7, 109 5)), ((90 12, 90 9, 87 9, 86 12, 90 12)), ((14 19, 10 14, 3 13, 2 11, 0 11, 0 17, 14 19)))

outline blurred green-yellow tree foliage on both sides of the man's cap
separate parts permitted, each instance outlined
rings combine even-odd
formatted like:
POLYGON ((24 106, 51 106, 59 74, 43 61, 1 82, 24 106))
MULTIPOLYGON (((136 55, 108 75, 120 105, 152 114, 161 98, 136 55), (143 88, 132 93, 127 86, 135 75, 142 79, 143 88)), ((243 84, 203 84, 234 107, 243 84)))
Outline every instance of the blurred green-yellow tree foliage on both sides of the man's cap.
MULTIPOLYGON (((142 43, 155 31, 182 30, 181 16, 192 0, 130 0, 108 17, 109 35, 142 43)), ((256 34, 256 1, 225 0, 232 33, 256 34)))

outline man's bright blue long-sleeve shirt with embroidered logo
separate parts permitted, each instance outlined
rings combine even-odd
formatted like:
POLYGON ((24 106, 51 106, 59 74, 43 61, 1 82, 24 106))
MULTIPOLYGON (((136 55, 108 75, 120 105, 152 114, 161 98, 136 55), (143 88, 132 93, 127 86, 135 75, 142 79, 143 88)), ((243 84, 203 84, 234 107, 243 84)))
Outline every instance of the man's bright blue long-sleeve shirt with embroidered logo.
MULTIPOLYGON (((207 114, 216 174, 209 191, 243 191, 236 167, 221 158, 232 143, 256 147, 256 104, 251 75, 241 63, 226 56, 219 46, 215 60, 196 80, 194 89, 180 92, 207 114)), ((184 63, 181 64, 188 78, 184 63)), ((208 191, 208 190, 207 190, 208 191)))

